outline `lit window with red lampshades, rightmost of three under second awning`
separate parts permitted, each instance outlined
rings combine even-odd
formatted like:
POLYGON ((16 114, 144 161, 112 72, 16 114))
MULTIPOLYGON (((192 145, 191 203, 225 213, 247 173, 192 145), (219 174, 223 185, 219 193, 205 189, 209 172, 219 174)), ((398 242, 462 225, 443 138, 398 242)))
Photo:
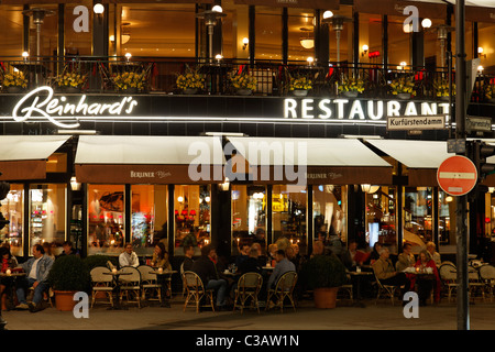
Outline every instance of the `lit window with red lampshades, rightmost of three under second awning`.
POLYGON ((200 248, 211 243, 210 239, 210 185, 175 186, 175 255, 183 255, 183 245, 195 246, 195 255, 200 248))

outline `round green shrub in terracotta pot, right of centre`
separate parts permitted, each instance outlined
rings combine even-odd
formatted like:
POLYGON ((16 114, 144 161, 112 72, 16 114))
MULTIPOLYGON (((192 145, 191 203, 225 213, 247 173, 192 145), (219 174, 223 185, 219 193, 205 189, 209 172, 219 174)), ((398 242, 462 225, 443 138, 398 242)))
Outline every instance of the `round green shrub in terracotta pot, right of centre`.
POLYGON ((336 308, 339 287, 348 279, 345 266, 336 255, 315 255, 302 265, 301 277, 314 290, 317 308, 336 308))

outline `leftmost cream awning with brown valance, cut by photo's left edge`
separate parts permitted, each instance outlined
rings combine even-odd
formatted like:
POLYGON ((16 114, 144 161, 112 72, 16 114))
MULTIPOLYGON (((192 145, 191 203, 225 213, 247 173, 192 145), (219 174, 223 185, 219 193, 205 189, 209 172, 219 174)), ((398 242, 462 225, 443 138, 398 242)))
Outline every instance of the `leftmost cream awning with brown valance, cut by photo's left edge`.
POLYGON ((63 135, 2 135, 0 180, 45 178, 46 161, 68 139, 63 135))

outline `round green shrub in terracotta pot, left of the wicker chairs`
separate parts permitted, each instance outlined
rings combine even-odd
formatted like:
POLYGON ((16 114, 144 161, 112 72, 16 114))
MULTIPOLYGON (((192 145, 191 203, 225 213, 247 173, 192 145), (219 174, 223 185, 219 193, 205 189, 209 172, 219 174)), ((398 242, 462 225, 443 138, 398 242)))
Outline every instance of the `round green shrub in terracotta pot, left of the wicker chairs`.
POLYGON ((58 310, 70 311, 77 292, 86 292, 90 277, 87 267, 78 255, 64 255, 55 260, 48 274, 48 283, 55 294, 58 310))

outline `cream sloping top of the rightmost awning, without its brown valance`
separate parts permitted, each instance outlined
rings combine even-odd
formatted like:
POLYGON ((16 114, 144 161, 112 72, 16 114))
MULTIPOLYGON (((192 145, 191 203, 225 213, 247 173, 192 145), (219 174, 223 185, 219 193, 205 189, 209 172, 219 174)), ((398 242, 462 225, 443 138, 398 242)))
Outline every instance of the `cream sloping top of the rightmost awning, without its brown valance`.
POLYGON ((447 153, 447 142, 407 140, 365 140, 409 168, 438 168, 454 154, 447 153))

